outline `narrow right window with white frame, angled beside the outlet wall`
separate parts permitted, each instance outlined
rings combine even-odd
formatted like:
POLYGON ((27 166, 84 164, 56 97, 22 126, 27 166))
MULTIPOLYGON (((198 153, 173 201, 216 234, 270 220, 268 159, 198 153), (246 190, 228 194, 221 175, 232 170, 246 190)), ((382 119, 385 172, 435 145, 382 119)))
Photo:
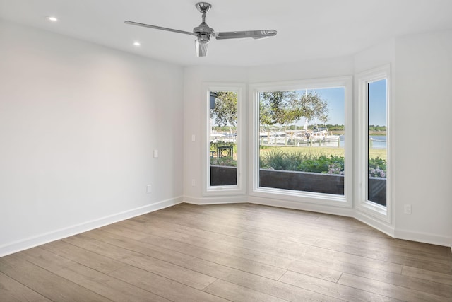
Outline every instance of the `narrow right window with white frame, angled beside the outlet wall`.
POLYGON ((389 221, 389 66, 357 75, 359 201, 357 208, 389 221))

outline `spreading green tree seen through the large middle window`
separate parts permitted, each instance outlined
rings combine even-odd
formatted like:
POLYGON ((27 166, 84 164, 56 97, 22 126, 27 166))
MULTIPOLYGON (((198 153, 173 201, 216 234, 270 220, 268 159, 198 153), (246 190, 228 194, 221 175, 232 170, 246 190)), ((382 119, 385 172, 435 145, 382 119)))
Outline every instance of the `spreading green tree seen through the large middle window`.
POLYGON ((259 114, 263 125, 287 125, 302 117, 328 121, 328 103, 313 92, 270 91, 261 93, 259 114))

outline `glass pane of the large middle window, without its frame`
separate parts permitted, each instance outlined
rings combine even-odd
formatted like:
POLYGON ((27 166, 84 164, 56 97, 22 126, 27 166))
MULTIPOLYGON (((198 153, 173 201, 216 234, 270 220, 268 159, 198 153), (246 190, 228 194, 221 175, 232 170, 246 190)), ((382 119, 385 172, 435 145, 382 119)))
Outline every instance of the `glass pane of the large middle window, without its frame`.
POLYGON ((259 187, 344 195, 345 88, 258 92, 259 187))

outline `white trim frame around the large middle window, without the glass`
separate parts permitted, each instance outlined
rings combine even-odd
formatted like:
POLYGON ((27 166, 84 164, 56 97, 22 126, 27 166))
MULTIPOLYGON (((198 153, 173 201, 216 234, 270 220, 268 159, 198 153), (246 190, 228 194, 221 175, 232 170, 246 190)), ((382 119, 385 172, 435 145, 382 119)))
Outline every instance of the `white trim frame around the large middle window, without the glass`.
POLYGON ((255 197, 270 197, 291 202, 305 202, 310 204, 329 205, 334 207, 348 207, 353 205, 353 135, 352 135, 352 76, 338 76, 326 79, 309 79, 303 81, 285 81, 276 83, 256 83, 249 86, 249 195, 255 197), (295 190, 281 190, 259 187, 259 91, 288 91, 302 89, 320 89, 345 87, 345 187, 344 195, 323 194, 295 190))

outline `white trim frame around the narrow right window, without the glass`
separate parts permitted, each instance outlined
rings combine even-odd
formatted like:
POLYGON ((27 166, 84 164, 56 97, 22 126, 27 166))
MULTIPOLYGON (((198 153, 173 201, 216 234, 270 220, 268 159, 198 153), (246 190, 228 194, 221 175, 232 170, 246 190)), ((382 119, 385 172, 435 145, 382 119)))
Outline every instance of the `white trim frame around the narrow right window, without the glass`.
POLYGON ((387 64, 375 69, 370 69, 364 71, 355 76, 355 87, 357 88, 357 170, 355 173, 357 175, 357 186, 356 186, 356 196, 357 201, 355 202, 355 209, 368 214, 375 219, 384 221, 386 223, 391 223, 391 181, 393 177, 392 161, 391 161, 391 112, 392 112, 392 102, 391 102, 391 65, 387 64), (386 207, 383 207, 374 202, 367 200, 367 190, 368 190, 368 83, 386 79, 386 207))

